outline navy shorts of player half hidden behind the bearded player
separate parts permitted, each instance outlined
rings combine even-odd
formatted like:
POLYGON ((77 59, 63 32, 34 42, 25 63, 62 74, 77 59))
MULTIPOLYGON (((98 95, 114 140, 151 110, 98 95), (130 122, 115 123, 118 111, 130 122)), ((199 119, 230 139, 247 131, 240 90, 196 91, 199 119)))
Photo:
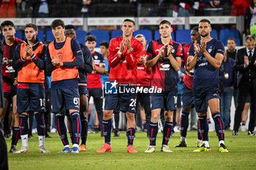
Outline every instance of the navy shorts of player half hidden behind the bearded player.
POLYGON ((187 88, 186 85, 182 87, 181 103, 183 107, 192 106, 195 107, 193 91, 187 88))

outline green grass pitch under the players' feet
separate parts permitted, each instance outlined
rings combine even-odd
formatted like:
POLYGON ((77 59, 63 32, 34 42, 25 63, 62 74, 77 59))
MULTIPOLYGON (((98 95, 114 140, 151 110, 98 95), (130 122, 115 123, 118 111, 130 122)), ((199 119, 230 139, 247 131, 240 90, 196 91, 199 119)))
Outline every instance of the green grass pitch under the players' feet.
MULTIPOLYGON (((96 150, 101 147, 104 139, 100 134, 89 134, 88 150, 79 154, 59 153, 62 144, 57 134, 50 134, 52 138, 45 140, 45 147, 50 153, 39 153, 37 134, 29 139, 30 152, 9 153, 10 169, 18 170, 64 170, 64 169, 256 169, 256 136, 248 136, 239 132, 232 136, 226 131, 225 144, 228 153, 218 152, 218 139, 215 132, 209 132, 211 152, 192 152, 195 150, 196 131, 189 131, 187 135, 188 147, 176 148, 180 137, 175 133, 170 138, 169 147, 173 152, 160 152, 162 134, 157 137, 157 150, 154 153, 144 153, 148 146, 145 132, 136 133, 135 149, 137 154, 127 153, 126 134, 112 137, 112 152, 99 154, 96 150)), ((8 150, 11 140, 7 139, 8 150)), ((20 148, 20 141, 18 142, 20 148)))

